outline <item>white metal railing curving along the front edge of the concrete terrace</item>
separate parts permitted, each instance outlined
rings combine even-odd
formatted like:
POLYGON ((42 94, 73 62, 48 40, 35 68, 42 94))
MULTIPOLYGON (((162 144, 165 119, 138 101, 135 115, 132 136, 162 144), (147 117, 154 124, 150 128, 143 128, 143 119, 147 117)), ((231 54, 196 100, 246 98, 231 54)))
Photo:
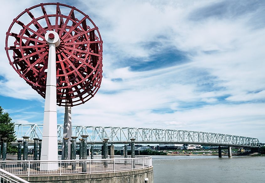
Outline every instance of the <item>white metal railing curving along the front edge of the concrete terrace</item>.
POLYGON ((0 167, 13 175, 63 175, 79 173, 116 172, 144 169, 152 166, 150 156, 114 159, 80 159, 57 161, 0 161, 0 167))

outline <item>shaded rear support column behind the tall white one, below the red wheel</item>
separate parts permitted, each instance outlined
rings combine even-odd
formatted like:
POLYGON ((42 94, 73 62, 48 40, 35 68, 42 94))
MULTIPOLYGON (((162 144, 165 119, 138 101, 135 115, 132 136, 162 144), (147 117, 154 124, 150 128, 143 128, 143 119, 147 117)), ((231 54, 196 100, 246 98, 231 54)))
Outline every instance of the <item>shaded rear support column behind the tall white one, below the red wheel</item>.
MULTIPOLYGON (((68 100, 66 102, 69 102, 68 100)), ((64 112, 64 125, 63 125, 63 137, 69 138, 68 140, 68 159, 70 159, 70 153, 71 153, 71 141, 72 138, 72 112, 71 112, 71 106, 65 106, 65 112, 64 112)), ((64 143, 62 147, 62 152, 64 152, 64 143)), ((64 159, 64 153, 62 153, 62 159, 64 159)))

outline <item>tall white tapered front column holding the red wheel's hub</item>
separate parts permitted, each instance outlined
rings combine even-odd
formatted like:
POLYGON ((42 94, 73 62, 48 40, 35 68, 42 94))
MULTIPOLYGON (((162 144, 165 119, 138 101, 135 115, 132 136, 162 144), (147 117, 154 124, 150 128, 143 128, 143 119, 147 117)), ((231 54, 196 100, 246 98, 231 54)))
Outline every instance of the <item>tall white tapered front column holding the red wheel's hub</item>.
MULTIPOLYGON (((42 150, 40 160, 58 160, 57 109, 56 109, 56 50, 59 35, 48 31, 45 39, 49 44, 48 71, 42 132, 42 150)), ((41 163, 40 170, 57 170, 58 163, 41 163)))

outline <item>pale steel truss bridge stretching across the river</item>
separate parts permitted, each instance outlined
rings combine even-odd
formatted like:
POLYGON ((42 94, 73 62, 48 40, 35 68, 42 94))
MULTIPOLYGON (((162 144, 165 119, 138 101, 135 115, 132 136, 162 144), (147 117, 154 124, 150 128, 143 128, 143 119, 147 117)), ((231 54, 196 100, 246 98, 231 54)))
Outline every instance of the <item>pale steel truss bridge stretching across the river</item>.
MULTIPOLYGON (((63 142, 63 125, 57 125, 58 144, 63 142)), ((29 136, 30 139, 42 138, 43 124, 15 124, 17 139, 29 136)), ((215 146, 233 146, 259 148, 257 138, 226 135, 220 133, 196 132, 186 130, 170 130, 157 128, 133 128, 111 126, 72 126, 72 136, 88 135, 87 143, 102 144, 109 138, 110 144, 130 143, 135 138, 136 144, 200 144, 215 146)))

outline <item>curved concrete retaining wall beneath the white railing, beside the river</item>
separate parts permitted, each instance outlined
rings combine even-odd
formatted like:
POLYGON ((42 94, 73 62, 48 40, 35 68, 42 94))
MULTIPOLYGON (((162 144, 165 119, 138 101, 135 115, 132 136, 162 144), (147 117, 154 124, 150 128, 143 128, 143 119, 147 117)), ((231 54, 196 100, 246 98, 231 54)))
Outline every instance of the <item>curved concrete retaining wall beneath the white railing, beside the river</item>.
POLYGON ((153 167, 115 173, 20 177, 30 183, 144 183, 145 178, 149 179, 148 183, 154 182, 153 167))

